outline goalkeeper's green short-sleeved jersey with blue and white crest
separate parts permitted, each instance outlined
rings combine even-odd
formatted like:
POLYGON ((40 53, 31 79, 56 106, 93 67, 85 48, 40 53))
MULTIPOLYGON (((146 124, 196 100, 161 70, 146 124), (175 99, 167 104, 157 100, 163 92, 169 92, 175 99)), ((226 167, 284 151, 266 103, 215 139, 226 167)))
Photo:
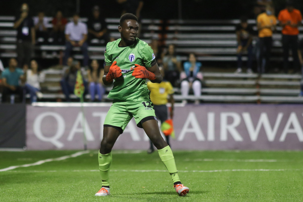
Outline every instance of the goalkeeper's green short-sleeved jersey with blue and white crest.
POLYGON ((122 76, 114 80, 114 87, 108 94, 108 98, 121 101, 135 101, 137 98, 149 93, 146 79, 132 76, 135 64, 150 68, 156 64, 155 55, 151 47, 136 38, 134 44, 119 47, 121 39, 108 42, 105 50, 105 64, 117 65, 122 70, 122 76))

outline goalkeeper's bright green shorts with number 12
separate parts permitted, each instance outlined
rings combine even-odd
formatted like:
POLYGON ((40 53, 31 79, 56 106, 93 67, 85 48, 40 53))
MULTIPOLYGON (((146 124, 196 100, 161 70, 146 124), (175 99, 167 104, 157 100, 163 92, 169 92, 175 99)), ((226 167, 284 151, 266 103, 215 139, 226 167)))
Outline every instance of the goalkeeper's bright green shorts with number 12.
POLYGON ((114 127, 121 134, 132 117, 135 118, 135 122, 140 128, 145 121, 157 120, 149 96, 139 98, 136 101, 114 100, 106 115, 104 127, 114 127))

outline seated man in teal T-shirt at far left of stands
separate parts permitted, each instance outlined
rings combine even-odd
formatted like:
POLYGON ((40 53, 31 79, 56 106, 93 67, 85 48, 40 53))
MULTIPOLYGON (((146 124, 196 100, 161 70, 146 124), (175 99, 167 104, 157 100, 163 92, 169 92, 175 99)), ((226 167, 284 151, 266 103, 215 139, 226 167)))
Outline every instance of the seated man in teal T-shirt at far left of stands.
POLYGON ((18 62, 15 58, 11 58, 8 68, 2 72, 3 94, 2 102, 7 101, 8 95, 19 95, 20 101, 23 102, 23 87, 20 83, 25 81, 24 72, 21 68, 17 68, 18 62))

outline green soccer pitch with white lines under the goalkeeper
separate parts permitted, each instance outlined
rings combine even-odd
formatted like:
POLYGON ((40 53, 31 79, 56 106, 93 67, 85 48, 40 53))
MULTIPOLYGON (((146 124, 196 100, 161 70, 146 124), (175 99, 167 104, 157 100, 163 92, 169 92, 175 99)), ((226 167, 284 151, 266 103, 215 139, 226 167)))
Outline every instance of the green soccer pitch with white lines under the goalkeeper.
POLYGON ((174 156, 186 197, 175 192, 158 153, 146 151, 113 151, 111 195, 95 197, 97 151, 0 151, 0 201, 303 201, 302 151, 174 156))

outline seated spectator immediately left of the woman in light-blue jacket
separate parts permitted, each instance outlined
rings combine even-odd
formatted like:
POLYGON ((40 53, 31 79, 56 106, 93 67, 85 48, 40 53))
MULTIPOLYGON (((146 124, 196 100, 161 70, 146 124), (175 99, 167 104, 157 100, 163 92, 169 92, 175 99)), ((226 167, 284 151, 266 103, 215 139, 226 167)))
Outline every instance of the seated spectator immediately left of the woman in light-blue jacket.
POLYGON ((181 68, 181 58, 175 54, 175 45, 170 44, 168 51, 164 51, 163 68, 165 72, 165 79, 169 81, 174 87, 178 86, 181 68))

